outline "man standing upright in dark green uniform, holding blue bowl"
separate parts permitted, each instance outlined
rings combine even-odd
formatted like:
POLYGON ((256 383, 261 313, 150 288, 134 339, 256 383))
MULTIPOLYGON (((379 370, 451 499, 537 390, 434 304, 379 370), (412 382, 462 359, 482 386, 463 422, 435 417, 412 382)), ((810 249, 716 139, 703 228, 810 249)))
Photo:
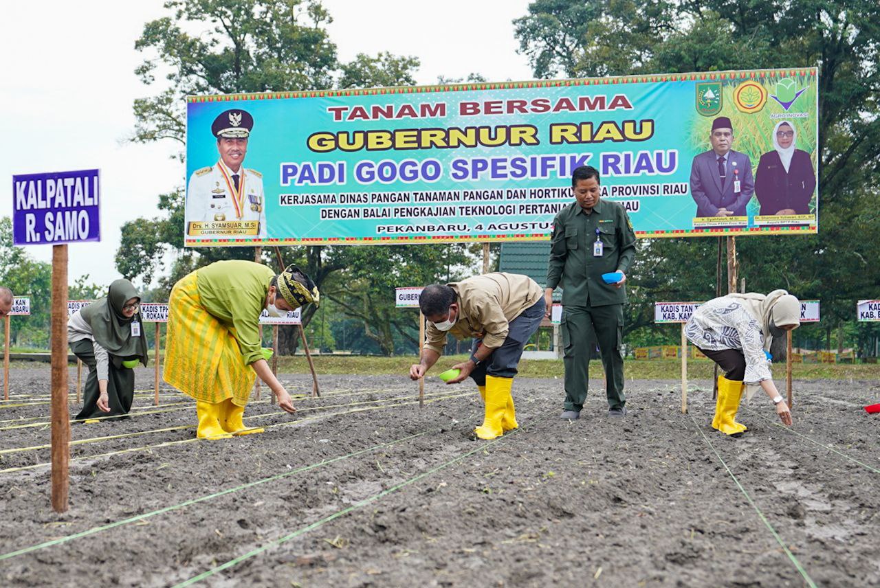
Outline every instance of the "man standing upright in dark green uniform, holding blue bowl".
MULTIPOLYGON (((635 234, 620 204, 599 200, 599 172, 581 166, 572 172, 575 201, 554 218, 553 244, 544 300, 562 287, 562 345, 565 363, 565 410, 561 418, 580 417, 590 382, 590 352, 598 342, 605 366, 608 415, 627 414, 620 355, 627 271, 635 254, 635 234), (605 282, 605 273, 620 272, 605 282)), ((549 315, 548 315, 549 316, 549 315)))

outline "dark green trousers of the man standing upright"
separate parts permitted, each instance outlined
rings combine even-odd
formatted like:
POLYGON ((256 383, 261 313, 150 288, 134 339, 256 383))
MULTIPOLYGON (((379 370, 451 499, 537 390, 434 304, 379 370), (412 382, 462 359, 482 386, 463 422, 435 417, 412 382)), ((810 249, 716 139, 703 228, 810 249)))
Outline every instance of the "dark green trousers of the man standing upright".
POLYGON ((608 407, 622 409, 623 395, 623 305, 562 308, 563 361, 565 364, 565 410, 583 408, 590 385, 590 353, 598 343, 605 367, 605 394, 608 407))

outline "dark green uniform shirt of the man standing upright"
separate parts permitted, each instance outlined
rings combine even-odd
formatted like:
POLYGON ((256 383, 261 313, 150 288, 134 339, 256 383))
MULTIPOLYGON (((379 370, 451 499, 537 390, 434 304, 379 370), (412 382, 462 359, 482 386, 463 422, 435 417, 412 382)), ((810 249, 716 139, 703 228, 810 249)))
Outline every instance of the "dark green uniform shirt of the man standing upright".
POLYGON ((562 304, 607 306, 627 301, 627 287, 605 284, 603 273, 629 271, 635 257, 635 233, 620 204, 599 200, 587 214, 572 202, 556 214, 546 287, 562 287, 562 304), (593 255, 596 241, 602 255, 593 255))

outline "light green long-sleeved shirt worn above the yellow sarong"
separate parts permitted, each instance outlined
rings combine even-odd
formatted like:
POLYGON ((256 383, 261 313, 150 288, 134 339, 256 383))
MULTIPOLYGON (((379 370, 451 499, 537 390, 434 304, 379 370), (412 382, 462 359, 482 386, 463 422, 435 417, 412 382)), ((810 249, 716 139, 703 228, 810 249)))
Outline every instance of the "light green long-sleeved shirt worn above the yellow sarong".
POLYGON ((202 307, 230 330, 246 366, 263 359, 260 313, 274 276, 266 265, 242 259, 217 261, 195 273, 202 307))

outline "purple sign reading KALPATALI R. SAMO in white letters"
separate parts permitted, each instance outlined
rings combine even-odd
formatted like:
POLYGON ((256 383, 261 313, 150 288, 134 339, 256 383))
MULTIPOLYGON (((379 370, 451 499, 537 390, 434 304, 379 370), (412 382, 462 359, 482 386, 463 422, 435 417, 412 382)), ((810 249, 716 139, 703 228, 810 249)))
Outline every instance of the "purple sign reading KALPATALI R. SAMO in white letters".
POLYGON ((100 241, 99 171, 12 176, 16 245, 100 241))

